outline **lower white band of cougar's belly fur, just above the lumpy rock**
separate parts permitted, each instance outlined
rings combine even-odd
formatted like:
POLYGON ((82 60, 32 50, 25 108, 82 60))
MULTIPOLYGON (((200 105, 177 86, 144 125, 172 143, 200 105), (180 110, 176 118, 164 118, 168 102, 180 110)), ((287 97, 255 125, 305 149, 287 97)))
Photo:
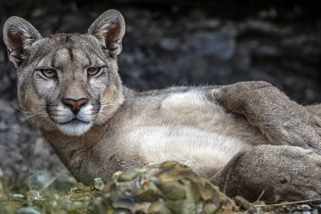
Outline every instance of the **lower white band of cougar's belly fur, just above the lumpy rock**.
POLYGON ((206 178, 251 146, 236 137, 178 125, 140 127, 135 134, 142 139, 140 151, 148 164, 176 160, 206 178))

